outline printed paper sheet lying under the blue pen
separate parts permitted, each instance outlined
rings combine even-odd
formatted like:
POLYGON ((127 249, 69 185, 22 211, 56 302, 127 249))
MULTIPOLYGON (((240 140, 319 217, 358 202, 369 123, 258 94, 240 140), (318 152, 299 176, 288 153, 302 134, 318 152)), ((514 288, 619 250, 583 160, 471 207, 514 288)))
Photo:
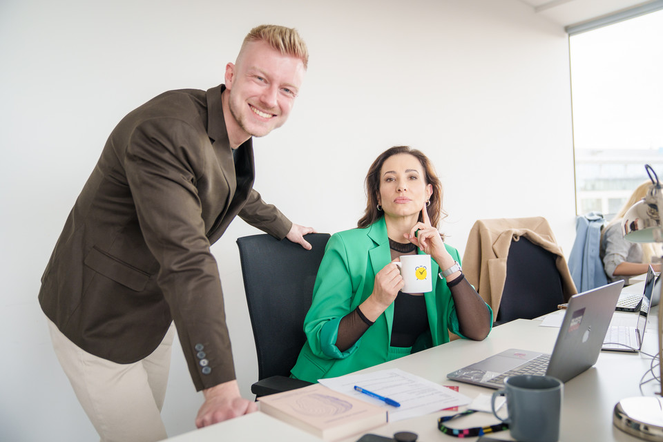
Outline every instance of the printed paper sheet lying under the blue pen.
POLYGON ((354 396, 355 398, 381 405, 389 411, 390 422, 423 416, 444 408, 467 405, 472 400, 454 392, 443 385, 428 381, 401 369, 381 370, 366 374, 347 374, 338 378, 320 379, 326 387, 354 396), (372 398, 354 390, 354 386, 385 396, 401 404, 400 407, 386 405, 379 399, 372 398))

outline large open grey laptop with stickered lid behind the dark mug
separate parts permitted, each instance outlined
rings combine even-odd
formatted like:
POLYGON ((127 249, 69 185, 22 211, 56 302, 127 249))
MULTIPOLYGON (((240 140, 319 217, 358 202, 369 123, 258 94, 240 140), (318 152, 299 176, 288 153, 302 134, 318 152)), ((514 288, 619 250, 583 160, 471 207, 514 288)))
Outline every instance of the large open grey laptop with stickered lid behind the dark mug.
POLYGON ((571 296, 552 354, 508 349, 447 375, 454 381, 501 388, 515 374, 554 376, 566 382, 596 363, 624 281, 571 296))

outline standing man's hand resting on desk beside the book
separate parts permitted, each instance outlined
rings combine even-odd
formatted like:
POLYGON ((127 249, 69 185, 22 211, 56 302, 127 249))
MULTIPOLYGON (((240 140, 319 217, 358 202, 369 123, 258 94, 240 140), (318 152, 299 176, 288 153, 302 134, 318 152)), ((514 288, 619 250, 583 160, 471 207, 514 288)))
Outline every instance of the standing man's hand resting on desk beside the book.
POLYGON ((205 402, 195 418, 195 426, 198 428, 258 411, 256 402, 240 396, 237 381, 215 385, 202 390, 202 393, 205 396, 205 402))

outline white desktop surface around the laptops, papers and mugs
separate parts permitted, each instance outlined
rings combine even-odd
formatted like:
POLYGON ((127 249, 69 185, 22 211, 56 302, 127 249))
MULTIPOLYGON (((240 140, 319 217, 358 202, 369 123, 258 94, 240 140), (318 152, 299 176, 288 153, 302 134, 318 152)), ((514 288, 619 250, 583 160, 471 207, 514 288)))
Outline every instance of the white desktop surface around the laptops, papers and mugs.
MULTIPOLYGON (((644 351, 657 352, 658 341, 655 334, 657 307, 649 316, 644 340, 644 351)), ((559 329, 539 327, 539 320, 515 320, 493 329, 482 342, 454 340, 396 361, 363 370, 399 368, 422 376, 441 385, 459 385, 459 391, 474 397, 480 393, 490 394, 494 390, 463 383, 455 383, 446 374, 470 363, 479 361, 491 354, 511 347, 532 349, 539 352, 552 352, 559 329)), ((640 396, 640 378, 649 367, 649 359, 640 354, 622 352, 601 352, 597 364, 564 385, 560 441, 640 441, 613 426, 613 407, 622 398, 640 396)), ((652 392, 657 385, 645 389, 652 392)), ((464 410, 461 407, 460 410, 464 410)), ((419 441, 459 441, 446 436, 437 429, 437 418, 454 412, 436 412, 414 419, 387 423, 372 430, 372 433, 392 436, 397 431, 412 431, 419 434, 419 441)), ((475 413, 451 421, 450 426, 465 428, 491 425, 497 419, 490 414, 475 413)), ((508 431, 491 434, 498 439, 512 440, 508 431)), ((354 442, 359 436, 345 439, 354 442)), ((218 423, 202 430, 182 434, 172 439, 177 442, 207 441, 314 441, 315 437, 300 432, 276 421, 265 414, 242 416, 231 421, 218 423)), ((465 439, 463 439, 465 440, 465 439)), ((476 440, 468 439, 468 440, 476 440)))

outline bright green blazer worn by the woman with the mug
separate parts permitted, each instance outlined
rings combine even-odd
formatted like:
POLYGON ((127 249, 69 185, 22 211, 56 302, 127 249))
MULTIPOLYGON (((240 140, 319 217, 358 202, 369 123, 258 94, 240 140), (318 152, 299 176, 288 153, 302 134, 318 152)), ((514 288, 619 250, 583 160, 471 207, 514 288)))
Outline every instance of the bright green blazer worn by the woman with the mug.
MULTIPOLYGON (((446 244, 445 247, 455 260, 461 261, 457 249, 446 244)), ((334 343, 340 319, 370 296, 376 273, 391 260, 384 218, 365 229, 335 233, 329 239, 318 269, 311 309, 304 322, 307 343, 291 370, 295 378, 316 382, 389 360, 393 304, 346 352, 340 352, 334 343)), ((434 260, 431 270, 434 275, 439 273, 434 260)), ((447 343, 449 330, 463 337, 445 281, 433 278, 432 288, 424 294, 430 329, 417 340, 412 352, 447 343)))

